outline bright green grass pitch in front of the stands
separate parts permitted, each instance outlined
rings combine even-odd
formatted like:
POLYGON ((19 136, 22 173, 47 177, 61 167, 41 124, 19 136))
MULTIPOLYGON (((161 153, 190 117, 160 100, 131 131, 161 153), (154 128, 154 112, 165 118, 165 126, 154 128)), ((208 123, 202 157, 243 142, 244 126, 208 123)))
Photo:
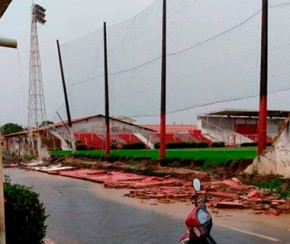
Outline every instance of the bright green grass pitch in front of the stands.
MULTIPOLYGON (((73 155, 71 151, 52 151, 51 155, 73 155)), ((84 150, 74 155, 104 156, 104 151, 84 150)), ((110 156, 158 159, 159 150, 112 150, 110 156)), ((192 160, 243 160, 254 159, 257 156, 256 147, 237 148, 194 148, 194 149, 167 149, 166 158, 192 160)))

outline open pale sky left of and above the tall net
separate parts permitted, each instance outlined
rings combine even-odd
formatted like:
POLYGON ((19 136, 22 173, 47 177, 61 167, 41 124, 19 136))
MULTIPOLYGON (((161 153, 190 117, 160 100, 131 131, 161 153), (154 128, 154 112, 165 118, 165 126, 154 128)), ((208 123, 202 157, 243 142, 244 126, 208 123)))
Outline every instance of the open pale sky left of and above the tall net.
MULTIPOLYGON (((113 25, 131 18, 156 0, 39 0, 46 9, 47 23, 38 25, 40 55, 47 118, 55 117, 63 103, 56 40, 74 40, 96 29, 103 22, 113 25), (57 77, 55 74, 59 72, 57 77)), ((18 49, 0 47, 0 123, 27 125, 29 51, 32 1, 12 0, 0 19, 0 37, 14 38, 18 49)))

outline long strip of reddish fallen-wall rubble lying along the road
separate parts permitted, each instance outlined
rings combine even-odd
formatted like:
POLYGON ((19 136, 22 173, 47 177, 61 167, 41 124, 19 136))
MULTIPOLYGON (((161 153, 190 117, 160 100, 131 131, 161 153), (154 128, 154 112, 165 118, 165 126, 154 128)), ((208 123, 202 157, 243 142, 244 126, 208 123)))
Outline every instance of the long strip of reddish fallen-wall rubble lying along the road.
MULTIPOLYGON (((70 166, 45 165, 42 162, 25 164, 29 170, 37 170, 60 176, 89 180, 103 184, 107 188, 128 189, 127 197, 139 198, 142 201, 152 201, 169 204, 174 202, 192 202, 195 192, 192 182, 186 179, 171 177, 145 176, 108 169, 76 169, 70 166)), ((259 190, 252 185, 244 185, 238 178, 223 181, 203 179, 199 199, 206 194, 206 205, 213 213, 219 208, 252 209, 254 214, 277 216, 290 213, 290 199, 280 199, 269 189, 259 190)))

